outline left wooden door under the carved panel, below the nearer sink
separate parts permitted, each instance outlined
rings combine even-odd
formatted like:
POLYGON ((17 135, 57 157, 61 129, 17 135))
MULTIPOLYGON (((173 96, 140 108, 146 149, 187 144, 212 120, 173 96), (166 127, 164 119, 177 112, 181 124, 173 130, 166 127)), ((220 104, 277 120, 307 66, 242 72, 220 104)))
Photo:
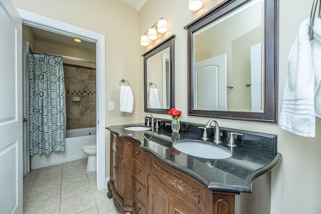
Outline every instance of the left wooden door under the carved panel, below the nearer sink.
POLYGON ((150 176, 148 176, 148 187, 147 213, 168 214, 169 193, 150 176))

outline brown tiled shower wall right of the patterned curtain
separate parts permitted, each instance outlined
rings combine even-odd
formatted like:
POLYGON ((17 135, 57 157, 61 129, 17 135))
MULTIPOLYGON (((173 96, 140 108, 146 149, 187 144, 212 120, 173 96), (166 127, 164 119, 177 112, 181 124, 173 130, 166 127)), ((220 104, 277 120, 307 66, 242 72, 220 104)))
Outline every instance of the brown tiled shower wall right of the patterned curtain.
POLYGON ((96 126, 96 69, 64 63, 67 129, 96 126), (79 97, 79 101, 73 101, 79 97))

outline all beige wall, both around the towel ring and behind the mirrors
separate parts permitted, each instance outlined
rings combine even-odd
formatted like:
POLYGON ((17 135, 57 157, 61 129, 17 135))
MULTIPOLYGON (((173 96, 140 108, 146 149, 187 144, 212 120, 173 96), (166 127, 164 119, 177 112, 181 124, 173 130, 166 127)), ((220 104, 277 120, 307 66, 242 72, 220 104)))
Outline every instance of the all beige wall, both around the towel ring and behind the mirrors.
MULTIPOLYGON (((187 32, 184 26, 218 4, 204 0, 205 7, 198 12, 187 8, 186 0, 148 0, 137 13, 119 0, 73 1, 57 0, 55 4, 40 0, 12 0, 17 8, 42 16, 75 25, 106 36, 106 104, 115 101, 114 112, 106 110, 106 126, 142 122, 143 102, 143 60, 141 54, 160 41, 176 34, 175 41, 175 88, 176 108, 183 111, 181 120, 205 124, 210 118, 187 115, 187 32), (107 5, 108 3, 108 5, 107 5), (170 31, 148 47, 139 46, 139 37, 159 18, 168 21, 170 31), (133 114, 120 113, 119 80, 130 82, 134 99, 133 114)), ((222 1, 220 1, 222 2, 222 1)), ((307 17, 312 0, 304 3, 299 0, 280 1, 279 30, 279 109, 287 69, 287 58, 299 24, 307 17)), ((108 105, 107 105, 108 106, 108 105)), ((166 114, 155 117, 170 119, 166 114)), ((283 155, 282 162, 272 170, 271 213, 320 213, 321 203, 321 133, 315 138, 304 138, 279 129, 276 124, 218 119, 220 126, 251 130, 278 135, 278 151, 283 155)), ((316 130, 320 130, 321 119, 316 119, 316 130)), ((106 155, 107 160, 108 152, 106 155)), ((108 161, 107 161, 108 164, 108 161)))

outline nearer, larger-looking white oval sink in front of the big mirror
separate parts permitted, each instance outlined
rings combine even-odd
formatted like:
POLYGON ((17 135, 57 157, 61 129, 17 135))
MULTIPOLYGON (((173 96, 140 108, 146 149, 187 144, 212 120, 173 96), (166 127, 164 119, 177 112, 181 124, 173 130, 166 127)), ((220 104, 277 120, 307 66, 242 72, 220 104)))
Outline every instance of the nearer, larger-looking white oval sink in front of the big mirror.
POLYGON ((178 140, 173 143, 173 147, 183 153, 202 158, 223 159, 232 156, 232 152, 227 148, 202 140, 178 140))

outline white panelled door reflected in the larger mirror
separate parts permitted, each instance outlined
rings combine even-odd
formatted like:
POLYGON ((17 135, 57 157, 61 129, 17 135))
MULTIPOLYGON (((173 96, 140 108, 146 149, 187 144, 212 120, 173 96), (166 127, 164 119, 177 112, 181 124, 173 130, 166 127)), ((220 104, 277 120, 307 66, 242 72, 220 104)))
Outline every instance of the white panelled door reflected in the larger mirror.
POLYGON ((194 109, 227 110, 226 54, 194 64, 194 109))

